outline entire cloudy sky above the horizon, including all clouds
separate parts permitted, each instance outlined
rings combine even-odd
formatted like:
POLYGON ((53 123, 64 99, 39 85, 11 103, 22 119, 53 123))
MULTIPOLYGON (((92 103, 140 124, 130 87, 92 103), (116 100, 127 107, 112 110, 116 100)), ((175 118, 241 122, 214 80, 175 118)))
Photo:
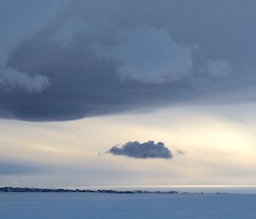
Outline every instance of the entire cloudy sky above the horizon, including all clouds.
POLYGON ((253 0, 2 0, 0 186, 254 185, 253 0))

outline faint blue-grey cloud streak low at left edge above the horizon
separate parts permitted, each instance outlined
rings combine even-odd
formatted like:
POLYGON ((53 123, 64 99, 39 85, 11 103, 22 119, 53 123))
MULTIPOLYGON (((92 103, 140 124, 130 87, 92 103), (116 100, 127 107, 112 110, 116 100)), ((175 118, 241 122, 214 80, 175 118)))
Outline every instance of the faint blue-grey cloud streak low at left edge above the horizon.
POLYGON ((44 172, 44 167, 38 164, 26 164, 24 162, 5 162, 0 161, 1 175, 30 175, 44 172))

